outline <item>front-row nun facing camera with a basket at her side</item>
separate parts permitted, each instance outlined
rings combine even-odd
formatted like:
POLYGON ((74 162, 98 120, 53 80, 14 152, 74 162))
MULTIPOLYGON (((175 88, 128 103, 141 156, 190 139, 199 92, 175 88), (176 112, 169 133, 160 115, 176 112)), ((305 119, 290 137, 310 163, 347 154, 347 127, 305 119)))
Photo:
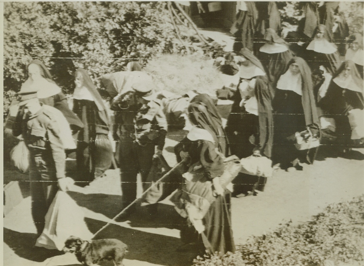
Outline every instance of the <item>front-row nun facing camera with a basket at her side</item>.
POLYGON ((281 169, 302 170, 299 162, 312 164, 316 149, 299 151, 288 140, 306 126, 318 124, 311 70, 301 57, 293 57, 277 82, 273 99, 274 145, 272 161, 281 169))

